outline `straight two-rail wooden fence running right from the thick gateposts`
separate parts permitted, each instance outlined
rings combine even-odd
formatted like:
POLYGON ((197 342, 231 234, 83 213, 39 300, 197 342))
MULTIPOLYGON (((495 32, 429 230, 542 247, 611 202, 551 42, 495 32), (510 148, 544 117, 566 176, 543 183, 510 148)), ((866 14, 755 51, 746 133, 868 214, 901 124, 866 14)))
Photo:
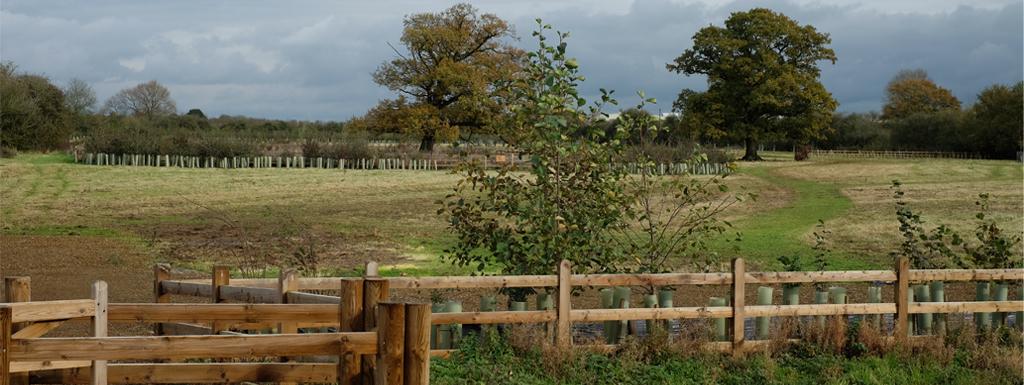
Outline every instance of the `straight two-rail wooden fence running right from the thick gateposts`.
MULTIPOLYGON (((908 302, 907 291, 911 283, 930 281, 965 282, 965 281, 1020 281, 1024 279, 1024 269, 916 269, 911 270, 904 260, 893 270, 852 270, 852 271, 745 271, 742 260, 734 261, 734 271, 742 271, 739 280, 733 272, 713 273, 659 273, 659 274, 573 274, 571 266, 559 266, 559 274, 554 275, 488 275, 488 276, 397 276, 381 277, 387 282, 389 290, 438 290, 438 289, 503 289, 503 288, 556 288, 558 302, 551 310, 536 311, 472 311, 472 312, 437 312, 432 314, 432 325, 450 324, 537 324, 554 323, 557 326, 556 338, 560 344, 571 344, 568 336, 572 323, 614 322, 635 319, 677 319, 677 318, 731 318, 732 328, 743 328, 743 319, 748 317, 773 316, 807 316, 807 315, 866 315, 895 314, 896 336, 909 335, 904 330, 906 319, 910 314, 947 313, 947 312, 1006 312, 1021 311, 1024 308, 1020 301, 979 301, 979 302, 942 302, 942 303, 911 303, 908 302), (817 283, 893 283, 897 295, 891 302, 877 303, 834 303, 834 304, 755 304, 745 305, 741 301, 745 296, 745 286, 758 285, 794 285, 817 283), (623 287, 643 286, 656 288, 664 286, 684 285, 719 285, 731 286, 731 304, 726 306, 701 307, 666 307, 666 308, 632 308, 632 309, 573 309, 570 303, 572 288, 578 287, 623 287), (903 293, 903 294, 899 294, 903 293)), ((376 265, 376 264, 374 264, 376 265)), ((369 270, 369 269, 368 269, 369 270)), ((374 268, 374 270, 376 270, 374 268)), ((336 290, 338 279, 298 277, 295 286, 299 290, 336 290)), ((198 292, 194 287, 187 287, 183 293, 178 290, 182 284, 201 285, 209 281, 165 281, 160 286, 166 293, 187 294, 198 292)), ((268 288, 274 280, 247 279, 232 281, 232 285, 251 286, 254 293, 264 293, 263 297, 272 297, 268 288)), ((209 291, 207 291, 209 292, 209 291)), ((250 296, 256 297, 256 296, 250 296)), ((237 296, 237 298, 249 298, 237 296)), ((288 293, 291 303, 338 303, 339 297, 308 294, 302 292, 288 293)), ((194 317, 197 318, 197 317, 194 317)), ((325 319, 316 319, 324 322, 325 319)), ((331 319, 330 322, 335 322, 331 319)), ((1021 320, 1018 320, 1020 324, 1021 320)), ((742 333, 732 333, 735 345, 741 345, 742 333)), ((735 346, 734 346, 735 347, 735 346)), ((741 350, 741 349, 737 349, 741 350)))

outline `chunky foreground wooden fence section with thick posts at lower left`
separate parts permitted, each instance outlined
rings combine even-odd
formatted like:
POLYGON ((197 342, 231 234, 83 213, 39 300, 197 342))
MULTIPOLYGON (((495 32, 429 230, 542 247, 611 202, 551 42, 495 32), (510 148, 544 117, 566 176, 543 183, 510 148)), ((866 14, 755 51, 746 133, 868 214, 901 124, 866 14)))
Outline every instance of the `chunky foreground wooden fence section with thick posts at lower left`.
MULTIPOLYGON (((223 268, 214 269, 208 291, 214 302, 227 293, 228 298, 245 300, 276 300, 286 296, 268 298, 268 289, 233 288, 223 268), (226 291, 224 289, 227 289, 226 291), (232 295, 238 289, 243 295, 232 295)), ((373 380, 378 384, 427 384, 429 382, 430 306, 396 302, 379 302, 367 312, 378 313, 381 322, 371 331, 346 330, 332 333, 303 333, 276 335, 246 335, 218 328, 229 329, 232 323, 275 326, 312 325, 337 327, 347 310, 340 301, 333 304, 186 304, 167 303, 160 293, 159 281, 167 277, 167 269, 158 266, 155 275, 158 285, 158 303, 106 302, 106 284, 93 286, 93 299, 4 302, 0 303, 0 385, 28 384, 30 381, 45 383, 202 383, 202 382, 342 382, 362 384, 373 380), (407 313, 412 314, 406 317, 407 313), (46 332, 70 319, 88 318, 93 326, 93 337, 45 338, 46 332), (108 337, 110 322, 147 323, 210 323, 195 329, 220 332, 207 336, 140 336, 108 337), (15 323, 37 323, 16 331, 15 323), (43 325, 43 328, 34 328, 43 325), (413 336, 407 341, 406 336, 413 336), (114 363, 108 360, 182 360, 292 356, 337 356, 339 363, 312 365, 298 362, 245 362, 245 363, 114 363), (343 365, 346 356, 371 357, 375 366, 370 371, 353 371, 343 365), (32 376, 29 376, 32 375, 32 376), (113 380, 111 376, 113 375, 113 380), (55 381, 54 381, 55 380, 55 381), (344 380, 344 381, 340 381, 344 380)), ((290 274, 289 274, 290 275, 290 274)), ((287 288, 282 280, 282 288, 287 288)), ((199 284, 195 284, 199 285, 199 284)), ((171 287, 181 287, 170 285, 171 287)), ((9 293, 9 291, 8 291, 9 293)), ((287 293, 286 293, 287 294, 287 293)), ((287 301, 286 301, 287 302, 287 301)), ((167 324, 166 330, 187 324, 167 324)), ((295 328, 293 327, 293 328, 295 328)), ((362 329, 362 328, 358 328, 362 329)))

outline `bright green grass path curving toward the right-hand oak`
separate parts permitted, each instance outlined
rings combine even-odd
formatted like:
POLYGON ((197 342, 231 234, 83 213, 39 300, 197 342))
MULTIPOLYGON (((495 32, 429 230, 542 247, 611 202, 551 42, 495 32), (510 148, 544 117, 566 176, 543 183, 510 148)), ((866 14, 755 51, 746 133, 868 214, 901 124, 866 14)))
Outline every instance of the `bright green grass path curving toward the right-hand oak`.
MULTIPOLYGON (((716 247, 726 255, 740 255, 762 267, 779 267, 776 258, 780 255, 801 255, 805 262, 813 258, 811 233, 818 220, 827 221, 846 214, 853 202, 843 195, 839 185, 798 179, 777 173, 783 167, 770 164, 755 164, 741 167, 739 172, 764 179, 781 188, 791 190, 794 199, 786 205, 761 212, 733 222, 741 233, 738 243, 716 243, 716 247), (732 248, 738 248, 738 250, 732 248)), ((836 269, 866 268, 872 261, 861 258, 846 258, 843 253, 829 258, 829 267, 836 269)))

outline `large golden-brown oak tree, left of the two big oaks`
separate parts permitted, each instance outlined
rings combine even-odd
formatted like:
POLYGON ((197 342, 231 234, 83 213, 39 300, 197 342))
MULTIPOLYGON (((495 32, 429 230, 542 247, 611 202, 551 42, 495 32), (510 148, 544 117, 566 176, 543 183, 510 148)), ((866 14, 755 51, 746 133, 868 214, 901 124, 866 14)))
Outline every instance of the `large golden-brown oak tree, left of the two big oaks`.
POLYGON ((371 110, 369 124, 420 135, 423 152, 439 138, 489 129, 520 68, 521 51, 505 41, 512 37, 508 23, 469 4, 406 17, 404 52, 395 49, 374 73, 399 97, 371 110))

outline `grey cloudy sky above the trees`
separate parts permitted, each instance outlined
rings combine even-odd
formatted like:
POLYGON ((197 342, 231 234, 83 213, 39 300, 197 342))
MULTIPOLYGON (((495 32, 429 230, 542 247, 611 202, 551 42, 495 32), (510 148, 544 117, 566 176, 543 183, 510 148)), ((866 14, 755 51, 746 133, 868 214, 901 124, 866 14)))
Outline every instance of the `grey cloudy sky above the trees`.
MULTIPOLYGON (((0 2, 0 59, 58 84, 80 78, 100 102, 156 79, 180 111, 208 116, 345 120, 392 95, 371 73, 393 52, 404 15, 450 1, 43 1, 0 2)), ((510 20, 528 48, 534 18, 571 32, 569 51, 584 92, 637 89, 668 112, 682 88, 703 79, 665 65, 701 27, 769 7, 830 34, 839 61, 822 81, 847 112, 881 109, 900 69, 922 68, 966 104, 993 83, 1024 72, 1024 2, 1005 0, 839 1, 481 1, 510 20)))

